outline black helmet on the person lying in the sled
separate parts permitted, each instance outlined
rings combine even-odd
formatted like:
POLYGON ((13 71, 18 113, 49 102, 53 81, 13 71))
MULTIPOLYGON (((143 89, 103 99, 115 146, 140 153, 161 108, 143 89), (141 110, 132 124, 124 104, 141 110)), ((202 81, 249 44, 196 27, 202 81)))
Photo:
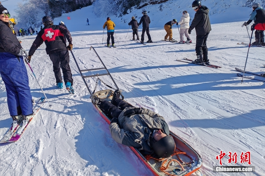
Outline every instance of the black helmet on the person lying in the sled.
POLYGON ((172 136, 165 136, 159 141, 151 138, 150 146, 153 148, 154 153, 159 158, 168 158, 173 154, 175 150, 175 141, 172 136))

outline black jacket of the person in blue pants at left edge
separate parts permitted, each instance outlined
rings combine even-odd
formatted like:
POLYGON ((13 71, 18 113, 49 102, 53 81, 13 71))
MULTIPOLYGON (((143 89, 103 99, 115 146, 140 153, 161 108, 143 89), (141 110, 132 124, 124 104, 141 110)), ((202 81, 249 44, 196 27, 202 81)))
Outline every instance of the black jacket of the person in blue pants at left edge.
POLYGON ((0 20, 0 52, 18 55, 21 48, 19 40, 8 27, 8 22, 5 23, 0 20))

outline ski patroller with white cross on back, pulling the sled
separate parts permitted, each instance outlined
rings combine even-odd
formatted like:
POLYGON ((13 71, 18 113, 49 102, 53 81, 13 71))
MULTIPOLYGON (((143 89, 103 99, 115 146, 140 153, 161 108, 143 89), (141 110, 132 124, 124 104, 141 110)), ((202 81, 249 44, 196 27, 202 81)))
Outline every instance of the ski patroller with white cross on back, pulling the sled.
POLYGON ((36 39, 34 40, 30 50, 28 52, 28 62, 30 62, 32 55, 38 49, 38 47, 45 42, 46 53, 50 56, 53 63, 53 72, 56 78, 56 86, 60 89, 63 88, 63 81, 61 76, 61 69, 64 75, 64 83, 66 89, 70 93, 74 93, 73 78, 70 69, 70 59, 68 50, 72 50, 72 37, 68 29, 64 26, 53 25, 53 19, 50 16, 44 16, 42 18, 44 28, 38 32, 36 39), (68 39, 69 45, 66 47, 64 41, 64 35, 68 39))

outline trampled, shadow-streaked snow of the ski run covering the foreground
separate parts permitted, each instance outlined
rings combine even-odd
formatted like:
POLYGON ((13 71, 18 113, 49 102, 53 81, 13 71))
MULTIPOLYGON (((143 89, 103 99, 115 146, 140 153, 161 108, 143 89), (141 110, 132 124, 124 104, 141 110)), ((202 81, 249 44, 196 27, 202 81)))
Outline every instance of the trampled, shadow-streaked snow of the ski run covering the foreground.
MULTIPOLYGON (((236 75, 235 67, 244 67, 247 52, 247 46, 237 43, 249 40, 241 23, 212 25, 207 41, 209 59, 220 69, 176 61, 183 57, 195 59, 195 44, 160 42, 165 35, 162 28, 150 31, 153 41, 158 42, 147 45, 129 40, 131 30, 127 38, 127 31, 117 30, 119 44, 116 42, 114 49, 101 44, 100 31, 72 32, 73 53, 80 69, 102 67, 95 53, 89 51, 92 45, 123 90, 125 99, 162 115, 170 130, 199 152, 203 158, 202 174, 265 175, 265 87, 263 82, 248 79, 241 84, 236 75), (223 30, 231 25, 233 31, 223 30), (227 154, 237 152, 238 161, 241 151, 250 151, 256 173, 213 173, 212 166, 219 165, 215 157, 220 150, 227 154)), ((195 42, 194 33, 191 39, 195 42)), ((178 38, 176 31, 173 34, 178 38)), ((28 51, 34 38, 20 40, 28 51)), ((262 48, 250 48, 247 71, 265 71, 263 53, 262 48)), ((44 44, 30 64, 53 107, 49 109, 46 105, 41 109, 18 142, 0 144, 0 175, 152 175, 128 147, 111 138, 107 123, 89 99, 72 55, 70 66, 76 91, 73 96, 65 88, 56 88, 52 62, 44 44)), ((32 96, 42 97, 28 67, 27 70, 32 96)), ((95 73, 105 72, 91 71, 85 75, 95 73)), ((101 79, 115 87, 108 76, 101 79)), ((93 91, 96 78, 86 80, 93 91)), ((108 88, 99 81, 97 90, 102 89, 108 88)), ((12 120, 1 78, 0 102, 2 138, 12 120)), ((225 156, 224 165, 229 165, 227 159, 225 156)))

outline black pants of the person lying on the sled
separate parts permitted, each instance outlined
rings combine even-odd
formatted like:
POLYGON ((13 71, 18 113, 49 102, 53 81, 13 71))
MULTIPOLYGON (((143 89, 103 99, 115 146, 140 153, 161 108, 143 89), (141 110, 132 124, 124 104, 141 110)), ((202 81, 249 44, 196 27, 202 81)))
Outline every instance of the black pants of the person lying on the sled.
POLYGON ((134 107, 130 105, 129 103, 126 103, 124 100, 121 100, 120 98, 116 98, 113 101, 113 104, 111 104, 109 101, 103 101, 101 102, 100 106, 101 109, 105 112, 106 115, 110 116, 111 118, 113 117, 119 117, 121 112, 126 108, 126 107, 134 107))

